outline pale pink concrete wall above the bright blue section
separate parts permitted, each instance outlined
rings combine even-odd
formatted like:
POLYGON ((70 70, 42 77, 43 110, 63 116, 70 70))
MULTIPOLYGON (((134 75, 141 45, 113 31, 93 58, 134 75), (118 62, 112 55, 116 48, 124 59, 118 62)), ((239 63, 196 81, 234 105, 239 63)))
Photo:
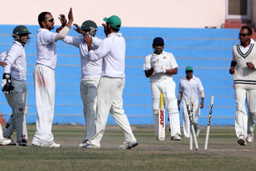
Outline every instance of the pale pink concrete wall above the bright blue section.
POLYGON ((0 24, 38 25, 38 14, 50 11, 60 25, 58 14, 74 9, 74 22, 86 19, 98 26, 102 18, 117 14, 122 26, 133 27, 220 27, 225 22, 225 0, 8 0, 2 3, 0 24))

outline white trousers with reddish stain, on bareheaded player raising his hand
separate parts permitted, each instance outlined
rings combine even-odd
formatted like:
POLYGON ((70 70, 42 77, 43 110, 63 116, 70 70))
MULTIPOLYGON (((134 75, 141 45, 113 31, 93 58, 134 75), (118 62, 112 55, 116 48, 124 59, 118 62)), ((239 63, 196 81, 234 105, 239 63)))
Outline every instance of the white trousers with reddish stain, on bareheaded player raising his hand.
POLYGON ((34 67, 34 91, 38 117, 32 143, 52 142, 54 141, 54 135, 51 133, 54 119, 54 70, 42 65, 34 67))

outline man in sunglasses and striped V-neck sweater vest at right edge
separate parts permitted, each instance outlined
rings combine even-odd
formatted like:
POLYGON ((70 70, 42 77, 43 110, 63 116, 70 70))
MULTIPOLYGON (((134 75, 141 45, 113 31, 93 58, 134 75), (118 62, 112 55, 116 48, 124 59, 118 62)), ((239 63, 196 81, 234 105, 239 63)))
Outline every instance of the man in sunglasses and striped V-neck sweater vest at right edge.
POLYGON ((235 132, 239 145, 254 141, 254 120, 256 118, 256 46, 252 30, 242 26, 239 33, 240 43, 233 46, 230 74, 234 78, 236 102, 235 132), (246 105, 248 109, 248 120, 246 105))

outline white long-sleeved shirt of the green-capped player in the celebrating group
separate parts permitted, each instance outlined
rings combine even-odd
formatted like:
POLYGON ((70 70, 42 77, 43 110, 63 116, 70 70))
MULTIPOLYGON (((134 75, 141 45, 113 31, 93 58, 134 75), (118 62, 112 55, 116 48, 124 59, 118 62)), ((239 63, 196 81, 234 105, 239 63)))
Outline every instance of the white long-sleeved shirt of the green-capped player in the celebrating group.
POLYGON ((121 33, 112 33, 104 38, 97 50, 90 50, 90 61, 102 58, 102 76, 125 78, 126 42, 121 33))

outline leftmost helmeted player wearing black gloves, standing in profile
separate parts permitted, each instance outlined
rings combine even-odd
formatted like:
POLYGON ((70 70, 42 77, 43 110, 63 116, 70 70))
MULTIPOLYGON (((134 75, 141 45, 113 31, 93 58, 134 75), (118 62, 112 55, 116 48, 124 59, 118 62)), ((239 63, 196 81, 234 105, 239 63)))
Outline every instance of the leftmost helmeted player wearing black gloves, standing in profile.
MULTIPOLYGON (((2 91, 12 109, 12 116, 3 130, 3 136, 10 138, 10 135, 17 132, 18 145, 26 146, 26 113, 27 106, 27 85, 26 85, 26 52, 24 46, 28 42, 29 30, 26 26, 16 26, 12 37, 14 44, 10 50, 1 54, 1 60, 6 62, 2 76, 2 91)), ((12 142, 11 145, 16 145, 12 142)))

